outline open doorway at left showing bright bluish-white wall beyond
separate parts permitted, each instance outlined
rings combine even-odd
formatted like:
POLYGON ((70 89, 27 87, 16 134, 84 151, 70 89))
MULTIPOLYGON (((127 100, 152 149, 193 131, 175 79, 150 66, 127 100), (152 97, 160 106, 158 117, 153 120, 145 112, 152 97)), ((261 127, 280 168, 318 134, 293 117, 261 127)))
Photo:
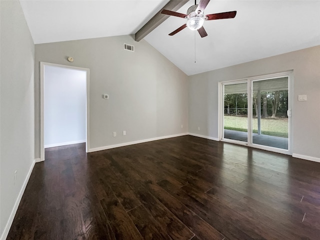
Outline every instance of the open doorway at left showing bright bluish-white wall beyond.
POLYGON ((88 151, 89 69, 40 63, 40 159, 44 148, 82 143, 88 151))

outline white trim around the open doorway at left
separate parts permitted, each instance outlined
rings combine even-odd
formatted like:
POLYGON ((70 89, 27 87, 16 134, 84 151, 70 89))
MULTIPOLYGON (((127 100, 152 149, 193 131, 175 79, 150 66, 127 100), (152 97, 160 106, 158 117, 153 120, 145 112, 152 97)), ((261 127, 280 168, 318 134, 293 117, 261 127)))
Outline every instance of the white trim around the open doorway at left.
POLYGON ((89 83, 90 83, 90 69, 61 65, 56 63, 40 61, 40 161, 44 160, 44 67, 45 66, 57 66, 69 69, 82 70, 86 72, 86 119, 85 119, 85 151, 88 152, 89 146, 89 83))

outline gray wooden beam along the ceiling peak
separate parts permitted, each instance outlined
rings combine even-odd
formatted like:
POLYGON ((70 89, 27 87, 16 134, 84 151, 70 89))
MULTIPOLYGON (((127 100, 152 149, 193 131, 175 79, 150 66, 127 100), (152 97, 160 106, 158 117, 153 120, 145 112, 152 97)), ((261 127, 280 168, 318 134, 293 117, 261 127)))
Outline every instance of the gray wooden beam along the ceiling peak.
POLYGON ((160 25, 169 15, 161 14, 163 9, 176 11, 181 6, 183 6, 189 0, 170 0, 163 6, 155 15, 142 26, 137 32, 134 34, 134 40, 139 41, 143 39, 147 34, 149 34, 155 27, 160 25))

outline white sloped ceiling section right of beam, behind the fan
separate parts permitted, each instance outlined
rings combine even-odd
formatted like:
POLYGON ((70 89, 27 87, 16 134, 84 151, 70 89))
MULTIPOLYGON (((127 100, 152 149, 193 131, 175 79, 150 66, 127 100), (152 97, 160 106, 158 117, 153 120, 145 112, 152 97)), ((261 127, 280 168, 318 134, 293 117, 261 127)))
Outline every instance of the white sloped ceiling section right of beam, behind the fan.
POLYGON ((233 10, 234 18, 205 21, 203 38, 188 28, 168 36, 185 22, 170 16, 144 39, 188 75, 320 44, 320 1, 211 0, 204 13, 233 10))

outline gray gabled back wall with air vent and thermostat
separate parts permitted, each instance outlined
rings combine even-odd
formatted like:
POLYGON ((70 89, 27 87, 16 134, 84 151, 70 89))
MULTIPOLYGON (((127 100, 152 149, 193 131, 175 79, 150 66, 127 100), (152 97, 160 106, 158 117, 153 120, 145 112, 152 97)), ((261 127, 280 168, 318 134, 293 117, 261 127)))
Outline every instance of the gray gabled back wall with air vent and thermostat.
POLYGON ((90 69, 89 148, 187 132, 187 75, 146 41, 123 35, 36 44, 36 157, 40 154, 40 61, 90 69), (134 52, 123 50, 124 42, 133 44, 134 52), (67 56, 74 61, 68 62, 67 56), (103 93, 109 94, 108 100, 103 93))

